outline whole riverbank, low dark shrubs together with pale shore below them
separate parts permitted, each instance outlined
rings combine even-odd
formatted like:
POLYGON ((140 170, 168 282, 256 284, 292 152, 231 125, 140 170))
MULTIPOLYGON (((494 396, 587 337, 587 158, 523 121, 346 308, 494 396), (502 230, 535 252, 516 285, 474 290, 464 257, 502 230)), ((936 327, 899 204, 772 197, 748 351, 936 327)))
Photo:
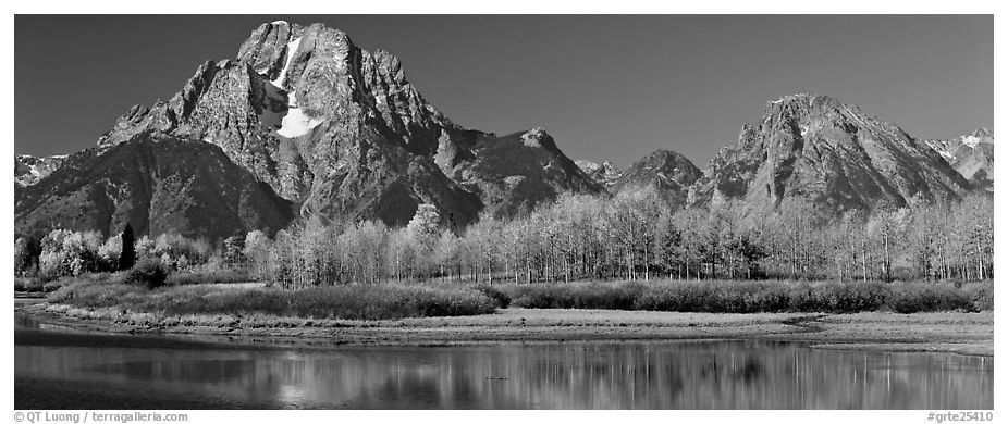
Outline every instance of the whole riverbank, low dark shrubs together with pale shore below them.
POLYGON ((21 310, 76 328, 270 344, 774 338, 835 349, 993 354, 991 282, 425 283, 302 290, 262 284, 148 289, 108 275, 64 283, 21 310))

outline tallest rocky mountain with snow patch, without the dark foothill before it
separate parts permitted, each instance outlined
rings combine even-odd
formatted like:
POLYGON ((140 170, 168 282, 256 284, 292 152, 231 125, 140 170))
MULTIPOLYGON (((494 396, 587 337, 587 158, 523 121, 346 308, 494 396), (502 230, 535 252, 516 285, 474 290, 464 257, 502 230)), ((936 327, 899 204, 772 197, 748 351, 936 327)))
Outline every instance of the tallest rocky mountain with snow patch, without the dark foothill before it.
MULTIPOLYGON (((560 191, 603 191, 552 137, 531 134, 541 137, 533 148, 463 128, 423 99, 397 58, 321 24, 260 25, 234 59, 204 63, 167 101, 131 108, 98 145, 149 134, 220 147, 303 216, 402 225, 431 203, 457 227, 484 208, 512 214, 560 191)), ((20 211, 23 222, 39 213, 20 211)))

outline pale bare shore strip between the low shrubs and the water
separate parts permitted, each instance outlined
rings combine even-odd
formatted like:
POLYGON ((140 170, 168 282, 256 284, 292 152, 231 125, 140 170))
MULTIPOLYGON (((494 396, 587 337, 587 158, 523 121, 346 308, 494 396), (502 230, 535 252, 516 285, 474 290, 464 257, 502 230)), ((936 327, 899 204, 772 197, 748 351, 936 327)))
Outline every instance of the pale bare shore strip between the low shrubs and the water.
POLYGON ((44 301, 22 302, 19 307, 17 300, 23 299, 15 299, 15 311, 49 327, 263 347, 757 339, 802 341, 815 349, 994 356, 993 311, 721 314, 515 308, 484 315, 351 321, 266 315, 159 316, 44 301))

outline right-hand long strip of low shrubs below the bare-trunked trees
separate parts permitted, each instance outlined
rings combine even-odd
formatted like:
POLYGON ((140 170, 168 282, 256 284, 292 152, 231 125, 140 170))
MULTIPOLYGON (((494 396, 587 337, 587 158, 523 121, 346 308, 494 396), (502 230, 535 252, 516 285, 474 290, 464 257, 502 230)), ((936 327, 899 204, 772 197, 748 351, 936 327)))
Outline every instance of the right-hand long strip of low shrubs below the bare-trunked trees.
MULTIPOLYGON (((508 286, 520 308, 635 309, 675 312, 900 313, 983 311, 994 308, 993 284, 882 282, 655 282, 508 286)), ((488 296, 491 296, 488 294, 488 296)))

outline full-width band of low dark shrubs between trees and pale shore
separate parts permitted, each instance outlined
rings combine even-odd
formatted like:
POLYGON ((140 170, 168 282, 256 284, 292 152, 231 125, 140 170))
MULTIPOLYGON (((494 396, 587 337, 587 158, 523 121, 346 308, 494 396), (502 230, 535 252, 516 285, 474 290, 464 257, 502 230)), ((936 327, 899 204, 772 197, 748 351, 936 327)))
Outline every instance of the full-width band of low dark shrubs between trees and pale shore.
POLYGON ((571 284, 378 284, 282 290, 262 285, 148 289, 114 275, 64 282, 50 303, 163 316, 266 315, 389 320, 460 316, 497 309, 599 309, 710 313, 989 311, 993 283, 614 282, 571 284))

